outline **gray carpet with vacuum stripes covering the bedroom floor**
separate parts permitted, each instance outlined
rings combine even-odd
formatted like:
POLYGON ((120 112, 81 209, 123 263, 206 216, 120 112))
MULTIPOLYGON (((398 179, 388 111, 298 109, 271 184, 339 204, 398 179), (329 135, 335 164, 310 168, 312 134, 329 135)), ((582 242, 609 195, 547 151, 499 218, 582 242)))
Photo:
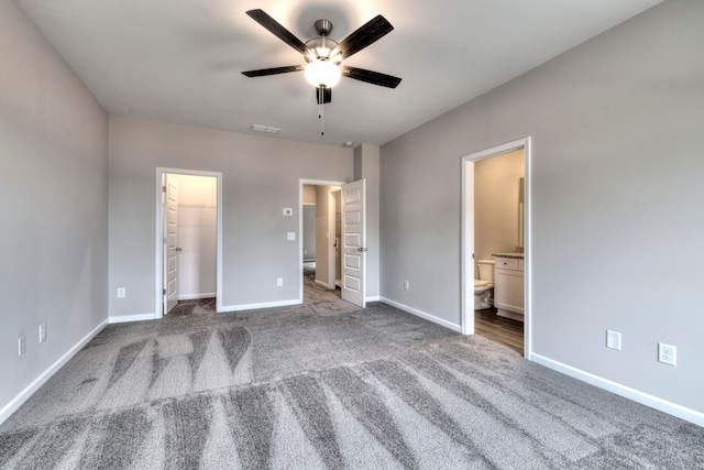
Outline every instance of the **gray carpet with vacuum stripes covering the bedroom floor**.
POLYGON ((306 299, 110 325, 0 427, 0 467, 704 468, 701 427, 384 304, 306 299))

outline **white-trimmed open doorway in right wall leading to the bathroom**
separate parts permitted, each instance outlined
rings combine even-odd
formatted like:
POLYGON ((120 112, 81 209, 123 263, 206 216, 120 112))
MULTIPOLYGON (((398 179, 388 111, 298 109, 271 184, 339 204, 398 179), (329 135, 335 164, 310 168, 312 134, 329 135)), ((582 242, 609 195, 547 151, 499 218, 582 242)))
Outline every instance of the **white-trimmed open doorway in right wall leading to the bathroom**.
MULTIPOLYGON (((503 342, 527 358, 531 351, 529 162, 529 138, 462 159, 462 332, 503 342), (477 261, 494 260, 494 254, 510 255, 516 267, 512 274, 522 276, 517 285, 522 291, 519 293, 522 308, 516 309, 520 315, 502 308, 503 298, 496 305, 475 310, 477 261)), ((496 282, 504 278, 501 271, 496 273, 499 278, 492 280, 493 299, 496 282)), ((515 282, 513 286, 516 287, 515 282)), ((499 295, 505 294, 503 287, 499 295)), ((477 307, 486 307, 479 304, 482 302, 477 307)))

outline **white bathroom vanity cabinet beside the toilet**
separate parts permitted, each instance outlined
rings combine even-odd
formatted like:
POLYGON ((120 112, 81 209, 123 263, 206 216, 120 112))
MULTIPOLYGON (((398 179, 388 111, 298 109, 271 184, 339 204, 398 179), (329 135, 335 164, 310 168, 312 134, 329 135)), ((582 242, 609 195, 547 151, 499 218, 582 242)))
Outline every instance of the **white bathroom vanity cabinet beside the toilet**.
POLYGON ((493 253, 496 315, 524 320, 524 253, 493 253))

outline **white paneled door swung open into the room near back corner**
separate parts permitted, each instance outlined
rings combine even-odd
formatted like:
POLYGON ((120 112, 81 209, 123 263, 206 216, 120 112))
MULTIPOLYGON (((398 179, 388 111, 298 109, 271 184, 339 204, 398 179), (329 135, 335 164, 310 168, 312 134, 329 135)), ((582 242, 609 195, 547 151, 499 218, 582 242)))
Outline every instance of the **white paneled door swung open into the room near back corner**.
POLYGON ((342 298, 364 308, 366 261, 364 179, 342 185, 342 298))

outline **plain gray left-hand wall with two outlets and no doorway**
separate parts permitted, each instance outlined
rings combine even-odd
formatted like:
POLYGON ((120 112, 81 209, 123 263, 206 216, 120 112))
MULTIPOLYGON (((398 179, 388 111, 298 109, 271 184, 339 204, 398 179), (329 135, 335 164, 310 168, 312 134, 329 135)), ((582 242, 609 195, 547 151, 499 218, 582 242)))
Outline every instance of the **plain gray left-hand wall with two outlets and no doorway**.
POLYGON ((2 420, 107 320, 108 116, 14 1, 0 2, 0 64, 2 420))

